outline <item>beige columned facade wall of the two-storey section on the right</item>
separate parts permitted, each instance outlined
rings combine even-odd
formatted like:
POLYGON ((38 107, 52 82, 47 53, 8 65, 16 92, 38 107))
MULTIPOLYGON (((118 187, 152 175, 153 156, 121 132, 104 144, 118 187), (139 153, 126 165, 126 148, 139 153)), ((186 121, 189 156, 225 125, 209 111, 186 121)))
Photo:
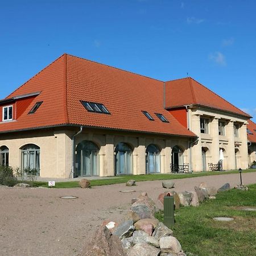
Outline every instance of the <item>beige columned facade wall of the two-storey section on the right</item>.
POLYGON ((207 108, 193 108, 188 110, 188 120, 188 125, 191 131, 199 137, 198 143, 191 148, 193 171, 199 172, 203 170, 202 148, 207 150, 207 171, 209 171, 209 163, 218 163, 218 160, 220 159, 220 148, 224 151, 224 170, 247 168, 248 155, 246 118, 233 114, 214 112, 207 108), (201 133, 200 131, 201 117, 208 118, 210 120, 208 124, 208 134, 201 133), (220 120, 226 122, 224 136, 218 134, 218 122, 220 120), (234 123, 238 123, 240 125, 238 137, 234 137, 234 123))

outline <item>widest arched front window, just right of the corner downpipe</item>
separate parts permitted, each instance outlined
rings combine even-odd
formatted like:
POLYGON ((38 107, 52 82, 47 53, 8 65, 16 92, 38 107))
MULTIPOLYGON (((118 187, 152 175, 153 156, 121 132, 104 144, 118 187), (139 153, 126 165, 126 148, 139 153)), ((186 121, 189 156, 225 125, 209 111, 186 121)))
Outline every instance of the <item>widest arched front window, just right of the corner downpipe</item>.
POLYGON ((76 147, 75 176, 98 175, 98 146, 92 141, 82 141, 76 147))

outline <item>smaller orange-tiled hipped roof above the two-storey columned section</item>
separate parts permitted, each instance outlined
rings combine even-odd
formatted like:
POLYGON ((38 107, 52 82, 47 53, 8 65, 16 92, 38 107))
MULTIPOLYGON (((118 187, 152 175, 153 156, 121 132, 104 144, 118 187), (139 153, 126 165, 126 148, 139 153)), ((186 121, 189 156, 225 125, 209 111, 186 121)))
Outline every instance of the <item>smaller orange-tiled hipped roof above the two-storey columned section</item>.
POLYGON ((191 77, 166 82, 166 108, 201 105, 251 118, 191 77))

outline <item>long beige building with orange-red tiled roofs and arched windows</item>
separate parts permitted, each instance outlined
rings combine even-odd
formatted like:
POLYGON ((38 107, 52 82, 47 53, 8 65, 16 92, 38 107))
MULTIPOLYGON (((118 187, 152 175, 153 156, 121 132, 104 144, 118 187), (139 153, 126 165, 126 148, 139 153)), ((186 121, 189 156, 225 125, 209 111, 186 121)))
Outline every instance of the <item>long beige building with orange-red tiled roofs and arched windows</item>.
POLYGON ((1 164, 42 177, 247 168, 250 115, 199 82, 64 54, 0 101, 1 164), (220 155, 221 153, 221 155, 220 155))

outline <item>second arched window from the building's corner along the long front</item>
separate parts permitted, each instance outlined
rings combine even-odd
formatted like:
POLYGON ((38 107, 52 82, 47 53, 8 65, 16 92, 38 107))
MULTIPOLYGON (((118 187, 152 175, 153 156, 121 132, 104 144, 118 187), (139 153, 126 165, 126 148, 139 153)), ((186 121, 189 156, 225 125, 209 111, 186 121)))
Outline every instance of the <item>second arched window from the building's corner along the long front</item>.
POLYGON ((115 175, 133 174, 133 150, 123 142, 115 147, 115 175))

